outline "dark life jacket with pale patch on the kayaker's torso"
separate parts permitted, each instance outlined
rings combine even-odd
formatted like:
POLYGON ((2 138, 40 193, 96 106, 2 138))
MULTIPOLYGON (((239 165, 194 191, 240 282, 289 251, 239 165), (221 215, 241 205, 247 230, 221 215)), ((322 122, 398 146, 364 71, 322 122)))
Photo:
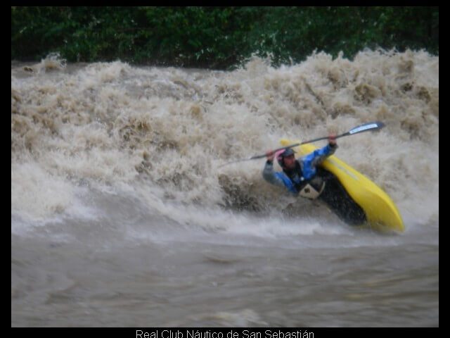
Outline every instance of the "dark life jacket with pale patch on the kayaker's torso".
POLYGON ((293 170, 283 169, 282 172, 277 172, 275 175, 283 181, 290 192, 300 194, 307 199, 318 198, 325 188, 325 181, 319 175, 306 180, 298 161, 295 161, 293 170))

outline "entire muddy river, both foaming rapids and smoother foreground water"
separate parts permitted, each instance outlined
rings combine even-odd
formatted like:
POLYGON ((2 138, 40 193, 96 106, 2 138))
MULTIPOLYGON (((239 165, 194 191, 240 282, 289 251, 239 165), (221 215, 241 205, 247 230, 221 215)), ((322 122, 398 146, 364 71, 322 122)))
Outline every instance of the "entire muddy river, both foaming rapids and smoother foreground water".
POLYGON ((439 57, 313 54, 233 71, 11 63, 12 326, 439 325, 439 57), (392 197, 358 230, 262 179, 279 140, 392 197), (325 143, 317 142, 322 146, 325 143))

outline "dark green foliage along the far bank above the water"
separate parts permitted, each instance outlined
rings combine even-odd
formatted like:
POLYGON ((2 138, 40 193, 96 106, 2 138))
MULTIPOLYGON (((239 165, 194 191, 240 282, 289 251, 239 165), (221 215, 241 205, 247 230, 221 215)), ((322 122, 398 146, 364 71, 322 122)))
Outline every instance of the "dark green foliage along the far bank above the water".
POLYGON ((252 54, 275 65, 314 50, 439 53, 439 7, 11 7, 11 59, 227 68, 252 54))

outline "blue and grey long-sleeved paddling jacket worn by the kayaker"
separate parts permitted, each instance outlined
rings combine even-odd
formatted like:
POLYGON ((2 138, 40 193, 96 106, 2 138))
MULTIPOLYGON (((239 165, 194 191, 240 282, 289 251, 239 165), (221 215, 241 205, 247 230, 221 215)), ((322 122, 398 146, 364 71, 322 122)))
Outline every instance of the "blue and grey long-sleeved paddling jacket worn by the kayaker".
POLYGON ((274 171, 274 163, 266 161, 262 177, 267 182, 277 185, 278 187, 286 187, 289 192, 299 194, 297 187, 304 182, 305 184, 316 176, 316 166, 322 163, 328 156, 334 154, 338 146, 330 146, 327 144, 321 149, 316 149, 302 158, 297 158, 297 163, 300 165, 301 172, 294 172, 291 177, 288 177, 283 171, 274 171))

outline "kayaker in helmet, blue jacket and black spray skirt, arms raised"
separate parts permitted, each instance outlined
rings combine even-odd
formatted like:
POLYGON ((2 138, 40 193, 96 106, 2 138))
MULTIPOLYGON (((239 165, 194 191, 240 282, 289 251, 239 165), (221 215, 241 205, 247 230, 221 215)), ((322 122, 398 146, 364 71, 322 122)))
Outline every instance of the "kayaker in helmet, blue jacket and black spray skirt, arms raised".
POLYGON ((328 137, 328 144, 321 149, 295 159, 295 152, 288 148, 281 153, 266 151, 266 165, 262 172, 264 180, 278 187, 284 187, 295 196, 319 199, 325 202, 338 217, 349 225, 366 222, 366 213, 349 196, 335 175, 321 164, 338 149, 334 134, 328 137), (274 157, 283 171, 274 171, 274 157))

